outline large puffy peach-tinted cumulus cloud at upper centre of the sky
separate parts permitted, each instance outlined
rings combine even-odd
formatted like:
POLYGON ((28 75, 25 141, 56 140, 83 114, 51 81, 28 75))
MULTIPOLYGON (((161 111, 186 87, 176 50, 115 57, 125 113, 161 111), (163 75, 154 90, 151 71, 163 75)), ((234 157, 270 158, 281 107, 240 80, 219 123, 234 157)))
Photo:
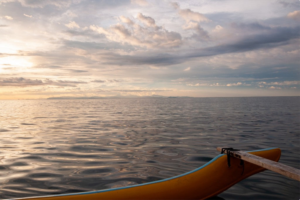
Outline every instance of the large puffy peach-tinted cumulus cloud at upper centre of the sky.
POLYGON ((107 39, 119 43, 128 43, 133 46, 147 48, 173 48, 182 44, 182 37, 179 33, 168 31, 157 26, 152 17, 138 13, 137 18, 146 26, 133 22, 133 20, 120 16, 122 23, 111 25, 109 28, 90 25, 90 30, 104 34, 107 39))

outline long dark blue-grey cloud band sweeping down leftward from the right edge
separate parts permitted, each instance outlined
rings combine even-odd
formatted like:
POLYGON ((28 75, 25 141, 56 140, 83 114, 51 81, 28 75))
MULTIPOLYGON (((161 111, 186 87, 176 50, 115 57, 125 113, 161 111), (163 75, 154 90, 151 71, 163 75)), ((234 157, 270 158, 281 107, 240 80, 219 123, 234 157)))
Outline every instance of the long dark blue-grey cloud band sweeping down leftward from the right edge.
MULTIPOLYGON (((242 25, 235 25, 235 28, 238 32, 242 30, 247 30, 246 35, 242 35, 235 40, 224 42, 222 44, 217 44, 214 46, 209 46, 205 48, 194 48, 192 50, 187 50, 184 53, 178 52, 158 52, 158 53, 147 53, 147 55, 143 54, 128 54, 128 55, 121 55, 119 53, 111 52, 109 55, 103 55, 106 57, 106 64, 118 64, 118 65, 125 65, 125 64, 151 64, 155 66, 167 66, 172 64, 179 64, 187 61, 190 58, 199 58, 199 57, 210 57, 210 56, 217 56, 217 55, 224 55, 227 58, 227 54, 229 53, 242 53, 242 52, 250 52, 253 54, 255 50, 262 49, 274 49, 279 46, 286 46, 289 45, 291 42, 299 38, 300 34, 300 27, 269 27, 260 24, 249 24, 250 28, 247 28, 247 24, 242 25), (251 30, 253 32, 251 32, 251 30)), ((133 33, 135 34, 135 33, 133 33)), ((131 34, 132 36, 132 34, 131 34)), ((150 46, 151 47, 151 46, 150 46)), ((283 48, 282 47, 282 48, 283 48)), ((153 47, 154 48, 154 47, 153 47)), ((298 48, 298 47, 297 47, 298 48)), ((290 52, 290 50, 288 51, 290 52)), ((274 52, 269 52, 270 55, 273 55, 274 52)), ((258 54, 261 54, 259 52, 258 54)), ((280 54, 284 54, 284 51, 280 54)), ((257 57, 257 54, 254 53, 254 57, 257 57)), ((270 56, 265 55, 265 56, 270 56)), ((241 58, 241 63, 244 62, 245 59, 249 62, 253 62, 252 58, 247 58, 249 55, 245 55, 244 58, 241 58)), ((239 56, 235 55, 237 59, 239 56)), ((253 57, 253 58, 254 58, 253 57)), ((215 57, 216 59, 219 57, 215 57)), ((298 54, 297 57, 298 59, 298 54)), ((233 58, 228 58, 230 62, 236 63, 235 61, 231 61, 233 58)), ((257 58, 255 58, 257 59, 257 58)), ((219 62, 220 58, 216 61, 219 62)), ((264 57, 261 61, 265 62, 266 58, 264 57)), ((229 62, 229 64, 230 64, 229 62)), ((210 62, 210 64, 212 64, 210 62)), ((241 65, 241 64, 240 64, 241 65)), ((238 66, 240 66, 238 65, 238 66)), ((241 65, 242 66, 242 65, 241 65)), ((228 68, 226 68, 228 70, 228 68)))

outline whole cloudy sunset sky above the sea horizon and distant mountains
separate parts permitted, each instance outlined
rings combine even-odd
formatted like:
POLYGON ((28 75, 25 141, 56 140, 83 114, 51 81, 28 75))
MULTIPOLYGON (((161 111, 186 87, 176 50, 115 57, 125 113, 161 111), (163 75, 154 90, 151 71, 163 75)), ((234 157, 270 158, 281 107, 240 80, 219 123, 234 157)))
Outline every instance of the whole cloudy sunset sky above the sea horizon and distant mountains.
POLYGON ((299 0, 0 0, 0 99, 300 95, 299 0))

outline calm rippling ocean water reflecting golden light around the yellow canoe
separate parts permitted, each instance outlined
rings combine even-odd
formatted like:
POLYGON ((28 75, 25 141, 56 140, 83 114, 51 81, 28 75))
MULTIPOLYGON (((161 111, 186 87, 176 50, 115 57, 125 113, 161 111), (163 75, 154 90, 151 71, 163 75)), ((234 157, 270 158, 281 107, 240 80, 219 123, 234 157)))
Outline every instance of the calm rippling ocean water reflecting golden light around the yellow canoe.
MULTIPOLYGON (((219 154, 279 147, 299 169, 299 97, 0 100, 0 199, 101 190, 179 175, 219 154)), ((299 199, 269 170, 218 195, 299 199)))

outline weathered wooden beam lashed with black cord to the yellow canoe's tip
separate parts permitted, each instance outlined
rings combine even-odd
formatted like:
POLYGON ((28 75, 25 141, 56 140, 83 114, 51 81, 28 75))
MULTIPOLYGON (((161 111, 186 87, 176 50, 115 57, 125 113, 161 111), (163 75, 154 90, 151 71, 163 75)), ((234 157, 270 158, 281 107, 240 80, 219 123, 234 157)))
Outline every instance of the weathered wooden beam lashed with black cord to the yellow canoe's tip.
MULTIPOLYGON (((217 147, 217 150, 222 151, 222 148, 226 148, 226 147, 217 147)), ((227 151, 225 150, 224 153, 226 154, 227 151)), ((253 154, 249 154, 244 151, 231 151, 230 155, 242 159, 244 161, 247 161, 249 163, 253 163, 255 165, 261 166, 265 169, 269 169, 273 172, 277 172, 279 174, 285 175, 297 181, 300 181, 300 169, 295 169, 293 167, 283 165, 281 163, 274 162, 273 160, 268 160, 253 154)))

